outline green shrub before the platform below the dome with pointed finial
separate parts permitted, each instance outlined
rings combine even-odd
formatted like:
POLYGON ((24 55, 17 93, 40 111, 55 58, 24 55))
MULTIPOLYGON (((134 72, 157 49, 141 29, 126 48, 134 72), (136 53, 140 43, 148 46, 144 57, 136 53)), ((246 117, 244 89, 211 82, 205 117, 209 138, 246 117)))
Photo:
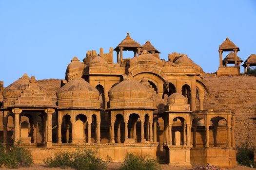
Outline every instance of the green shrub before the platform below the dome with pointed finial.
POLYGON ((120 170, 159 170, 159 166, 156 159, 128 153, 120 170))

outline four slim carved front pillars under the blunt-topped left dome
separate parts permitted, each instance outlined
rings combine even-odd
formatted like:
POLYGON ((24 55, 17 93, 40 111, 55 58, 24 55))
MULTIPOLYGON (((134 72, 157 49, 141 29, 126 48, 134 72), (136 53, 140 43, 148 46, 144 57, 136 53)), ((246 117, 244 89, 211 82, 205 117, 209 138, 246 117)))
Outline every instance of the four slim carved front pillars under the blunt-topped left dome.
MULTIPOLYGON (((61 124, 62 124, 62 118, 63 118, 63 116, 59 116, 58 117, 58 143, 62 143, 61 142, 61 124)), ((74 135, 74 125, 75 125, 75 122, 76 122, 76 118, 75 117, 73 117, 73 116, 71 116, 71 119, 70 119, 71 121, 71 125, 72 125, 72 136, 71 137, 73 137, 73 136, 75 136, 74 135)), ((84 122, 85 123, 85 122, 84 122)), ((89 117, 88 118, 88 121, 87 121, 87 123, 88 123, 88 131, 87 131, 87 143, 92 143, 92 141, 91 141, 91 138, 92 138, 92 133, 91 133, 91 125, 92 125, 92 119, 89 117)), ((97 125, 96 125, 96 134, 97 134, 97 139, 96 139, 96 143, 100 143, 100 121, 97 119, 97 125)), ((86 141, 86 140, 85 140, 86 141)), ((74 143, 73 142, 73 140, 72 140, 72 143, 74 143)))

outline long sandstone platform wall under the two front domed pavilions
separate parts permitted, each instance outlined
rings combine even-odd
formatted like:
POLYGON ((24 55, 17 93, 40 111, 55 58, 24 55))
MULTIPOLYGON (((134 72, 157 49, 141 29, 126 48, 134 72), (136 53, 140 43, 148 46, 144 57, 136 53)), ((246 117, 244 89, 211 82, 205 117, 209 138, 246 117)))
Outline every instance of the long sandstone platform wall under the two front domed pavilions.
POLYGON ((158 143, 106 143, 106 144, 53 144, 53 148, 27 148, 31 151, 34 163, 43 163, 48 157, 59 151, 75 151, 79 149, 96 150, 98 156, 104 161, 122 162, 127 153, 147 155, 149 158, 157 158, 158 143))

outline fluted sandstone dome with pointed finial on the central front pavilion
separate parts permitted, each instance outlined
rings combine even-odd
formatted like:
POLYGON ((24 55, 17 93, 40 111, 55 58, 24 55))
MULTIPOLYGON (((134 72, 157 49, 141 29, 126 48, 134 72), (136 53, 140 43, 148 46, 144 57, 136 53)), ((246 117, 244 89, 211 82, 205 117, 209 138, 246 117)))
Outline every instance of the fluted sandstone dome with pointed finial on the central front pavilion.
POLYGON ((131 74, 108 92, 110 109, 153 108, 152 91, 134 80, 131 74))

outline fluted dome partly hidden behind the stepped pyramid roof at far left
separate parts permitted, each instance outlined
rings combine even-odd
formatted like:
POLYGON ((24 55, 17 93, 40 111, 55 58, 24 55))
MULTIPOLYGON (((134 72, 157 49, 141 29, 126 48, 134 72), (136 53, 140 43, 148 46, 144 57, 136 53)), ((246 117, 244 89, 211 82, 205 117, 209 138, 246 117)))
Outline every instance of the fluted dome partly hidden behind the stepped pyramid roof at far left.
POLYGON ((20 97, 21 91, 28 86, 29 80, 30 78, 25 73, 22 77, 20 77, 20 79, 4 88, 2 92, 4 107, 14 104, 17 98, 20 97))

